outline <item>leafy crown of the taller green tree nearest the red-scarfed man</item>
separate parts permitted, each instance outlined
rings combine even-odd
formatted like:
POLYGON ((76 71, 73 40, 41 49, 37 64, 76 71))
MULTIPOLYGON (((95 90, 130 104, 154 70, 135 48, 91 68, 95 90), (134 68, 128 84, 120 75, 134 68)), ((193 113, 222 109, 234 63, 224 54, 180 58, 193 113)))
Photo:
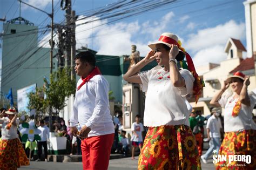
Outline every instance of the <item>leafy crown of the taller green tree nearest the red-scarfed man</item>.
MULTIPOLYGON (((56 114, 65 105, 65 98, 76 93, 76 79, 71 80, 71 69, 64 67, 57 72, 53 72, 50 77, 50 84, 45 88, 46 105, 55 108, 56 114)), ((46 80, 44 80, 47 84, 46 80)))

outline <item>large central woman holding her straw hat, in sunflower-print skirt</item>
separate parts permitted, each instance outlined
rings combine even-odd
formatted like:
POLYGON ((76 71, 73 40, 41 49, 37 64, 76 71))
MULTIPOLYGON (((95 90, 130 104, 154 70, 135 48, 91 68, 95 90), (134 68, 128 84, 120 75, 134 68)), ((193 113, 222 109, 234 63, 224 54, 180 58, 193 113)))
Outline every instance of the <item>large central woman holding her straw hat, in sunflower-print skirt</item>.
POLYGON ((147 91, 144 126, 149 126, 149 131, 138 169, 201 169, 185 100, 186 95, 192 93, 198 100, 203 81, 176 35, 163 33, 158 42, 149 47, 152 50, 147 56, 124 75, 126 81, 138 83, 147 91), (185 56, 188 65, 183 60, 185 56), (153 60, 158 66, 139 72, 153 60), (179 69, 177 64, 186 69, 179 69))

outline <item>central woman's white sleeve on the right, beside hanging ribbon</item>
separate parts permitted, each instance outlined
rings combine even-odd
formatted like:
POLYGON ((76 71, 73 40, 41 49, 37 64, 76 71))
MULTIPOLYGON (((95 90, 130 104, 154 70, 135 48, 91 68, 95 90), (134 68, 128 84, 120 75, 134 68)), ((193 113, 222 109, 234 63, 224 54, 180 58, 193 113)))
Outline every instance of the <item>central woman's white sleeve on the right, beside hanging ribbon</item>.
POLYGON ((180 91, 180 95, 182 97, 187 96, 187 94, 193 93, 193 85, 194 85, 194 77, 191 74, 190 71, 183 69, 179 71, 181 76, 185 80, 186 87, 178 87, 178 90, 180 91))

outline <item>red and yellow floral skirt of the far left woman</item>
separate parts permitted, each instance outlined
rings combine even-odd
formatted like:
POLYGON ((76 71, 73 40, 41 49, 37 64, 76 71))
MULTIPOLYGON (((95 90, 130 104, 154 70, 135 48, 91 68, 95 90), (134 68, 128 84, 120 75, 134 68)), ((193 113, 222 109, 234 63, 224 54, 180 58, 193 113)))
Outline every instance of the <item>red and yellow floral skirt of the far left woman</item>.
POLYGON ((0 140, 0 169, 12 170, 29 165, 21 141, 16 139, 0 140))

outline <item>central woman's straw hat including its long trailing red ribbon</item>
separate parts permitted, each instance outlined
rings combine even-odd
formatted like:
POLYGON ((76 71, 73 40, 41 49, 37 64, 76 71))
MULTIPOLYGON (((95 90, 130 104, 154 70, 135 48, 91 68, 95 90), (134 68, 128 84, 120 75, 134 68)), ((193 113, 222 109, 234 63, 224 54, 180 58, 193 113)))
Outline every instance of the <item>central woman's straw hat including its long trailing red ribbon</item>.
POLYGON ((197 103, 199 96, 201 95, 201 93, 203 91, 203 87, 205 86, 204 81, 201 80, 200 77, 198 76, 196 69, 194 68, 194 63, 193 63, 190 55, 186 52, 186 50, 183 47, 181 47, 181 42, 179 41, 179 38, 176 35, 174 35, 173 33, 165 32, 165 33, 161 34, 161 36, 157 42, 149 44, 148 46, 152 50, 155 50, 156 44, 165 44, 169 47, 172 44, 174 44, 174 45, 178 46, 179 51, 182 51, 183 53, 185 53, 187 65, 185 62, 181 62, 181 65, 184 69, 189 70, 193 74, 193 77, 195 78, 194 86, 193 86, 193 95, 196 98, 196 103, 197 103))

